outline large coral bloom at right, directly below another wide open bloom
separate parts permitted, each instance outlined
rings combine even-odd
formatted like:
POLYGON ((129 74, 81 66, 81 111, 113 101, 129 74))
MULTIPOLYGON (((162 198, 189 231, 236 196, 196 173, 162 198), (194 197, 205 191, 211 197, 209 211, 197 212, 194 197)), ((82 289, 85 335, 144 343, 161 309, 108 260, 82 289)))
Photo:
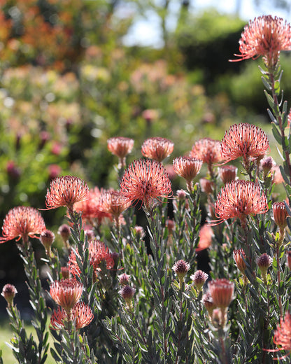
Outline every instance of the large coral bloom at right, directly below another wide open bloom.
POLYGON ((246 228, 248 215, 265 214, 268 211, 267 197, 260 185, 251 181, 232 181, 227 183, 218 194, 215 202, 217 225, 228 218, 239 218, 241 225, 246 228))

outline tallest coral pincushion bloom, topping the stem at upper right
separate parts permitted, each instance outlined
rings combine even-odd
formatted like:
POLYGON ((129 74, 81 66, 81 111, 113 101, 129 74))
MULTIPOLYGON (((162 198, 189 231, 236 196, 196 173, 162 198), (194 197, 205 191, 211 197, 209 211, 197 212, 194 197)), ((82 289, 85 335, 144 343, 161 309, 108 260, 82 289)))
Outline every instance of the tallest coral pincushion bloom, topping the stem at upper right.
POLYGON ((291 27, 282 18, 263 15, 250 20, 239 40, 239 59, 264 57, 267 66, 274 67, 281 50, 291 50, 291 27))

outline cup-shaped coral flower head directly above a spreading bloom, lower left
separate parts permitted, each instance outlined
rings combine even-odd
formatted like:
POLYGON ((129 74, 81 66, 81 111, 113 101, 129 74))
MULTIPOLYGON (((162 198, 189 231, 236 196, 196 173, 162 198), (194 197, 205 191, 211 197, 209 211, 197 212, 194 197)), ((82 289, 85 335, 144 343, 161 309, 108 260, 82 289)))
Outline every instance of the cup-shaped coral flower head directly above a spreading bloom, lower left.
POLYGON ((54 281, 50 285, 52 300, 59 304, 65 311, 70 311, 80 300, 83 284, 76 279, 68 278, 54 281))

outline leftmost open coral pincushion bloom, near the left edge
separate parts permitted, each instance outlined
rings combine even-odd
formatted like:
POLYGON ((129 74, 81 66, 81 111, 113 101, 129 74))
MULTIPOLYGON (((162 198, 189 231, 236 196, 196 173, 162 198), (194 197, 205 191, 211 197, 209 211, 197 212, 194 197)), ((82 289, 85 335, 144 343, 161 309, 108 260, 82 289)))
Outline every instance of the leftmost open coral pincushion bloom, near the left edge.
POLYGON ((4 218, 0 243, 15 238, 27 243, 29 236, 36 237, 44 230, 45 222, 38 210, 33 207, 14 207, 4 218))

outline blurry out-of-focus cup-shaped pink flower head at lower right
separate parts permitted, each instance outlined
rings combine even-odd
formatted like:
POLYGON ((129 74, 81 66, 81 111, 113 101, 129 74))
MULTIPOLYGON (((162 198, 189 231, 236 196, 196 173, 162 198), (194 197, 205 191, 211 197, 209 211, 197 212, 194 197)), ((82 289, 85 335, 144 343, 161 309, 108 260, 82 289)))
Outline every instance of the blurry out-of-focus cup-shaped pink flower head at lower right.
POLYGON ((208 283, 208 289, 216 307, 226 309, 234 298, 234 283, 228 279, 215 279, 208 283))

